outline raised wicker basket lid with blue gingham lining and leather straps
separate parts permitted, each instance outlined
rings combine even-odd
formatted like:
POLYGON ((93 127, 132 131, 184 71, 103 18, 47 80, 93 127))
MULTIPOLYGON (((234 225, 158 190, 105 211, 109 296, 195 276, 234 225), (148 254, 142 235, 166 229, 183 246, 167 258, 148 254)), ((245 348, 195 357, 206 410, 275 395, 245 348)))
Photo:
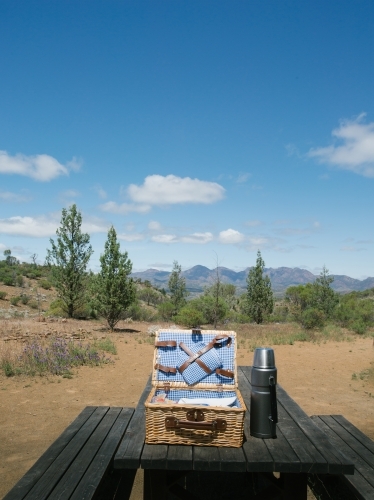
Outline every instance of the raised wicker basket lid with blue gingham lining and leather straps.
MULTIPOLYGON (((213 347, 215 349, 215 347, 213 347)), ((156 332, 155 337, 155 351, 153 357, 153 371, 152 371, 152 384, 154 386, 167 385, 170 387, 179 388, 209 388, 209 389, 234 389, 237 388, 237 367, 236 367, 236 333, 233 331, 219 331, 219 330, 177 330, 177 329, 160 329, 156 332), (171 367, 176 368, 178 365, 178 358, 181 352, 179 344, 183 342, 193 352, 199 350, 198 346, 201 343, 209 344, 212 340, 223 335, 231 338, 231 342, 225 341, 223 346, 217 344, 217 351, 222 361, 221 370, 228 370, 233 372, 234 378, 223 376, 215 371, 204 377, 200 382, 188 385, 178 370, 167 372, 158 367, 171 367), (175 345, 157 346, 160 342, 175 341, 175 345)))

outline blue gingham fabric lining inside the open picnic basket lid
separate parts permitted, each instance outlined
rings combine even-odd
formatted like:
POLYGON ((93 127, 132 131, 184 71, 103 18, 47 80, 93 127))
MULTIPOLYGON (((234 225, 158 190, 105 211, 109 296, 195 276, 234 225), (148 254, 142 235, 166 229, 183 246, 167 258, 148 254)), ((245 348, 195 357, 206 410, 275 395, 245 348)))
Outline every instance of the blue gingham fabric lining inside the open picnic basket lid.
MULTIPOLYGON (((197 348, 197 344, 209 344, 214 337, 215 333, 207 334, 202 332, 201 334, 191 334, 191 332, 186 333, 175 333, 172 331, 160 331, 158 340, 175 340, 177 342, 176 347, 158 347, 157 348, 157 363, 163 366, 172 366, 176 368, 179 362, 179 354, 183 353, 186 357, 186 353, 179 347, 180 342, 184 342, 193 352, 197 352, 199 348, 197 348)), ((224 370, 234 371, 234 354, 235 354, 235 342, 236 339, 232 338, 231 346, 227 347, 227 339, 220 341, 220 345, 222 347, 211 349, 209 352, 215 352, 220 360, 221 360, 221 368, 224 370)), ((206 354, 208 354, 206 353, 206 354)), ((205 355, 204 355, 205 356, 205 355)), ((202 360, 204 361, 203 357, 202 360)), ((205 362, 205 361, 204 361, 205 362)), ((193 363, 192 365, 195 365, 193 363)), ((191 365, 191 366, 192 366, 191 365)), ((200 368, 200 367, 199 367, 200 368)), ((186 371, 186 370, 185 370, 186 371)), ((225 384, 225 385, 234 385, 235 380, 231 378, 224 377, 222 375, 218 375, 215 371, 213 371, 210 375, 207 375, 204 372, 206 377, 204 378, 204 383, 209 384, 225 384)), ((165 373, 162 370, 158 370, 157 379, 159 381, 164 382, 185 382, 182 374, 178 371, 177 373, 165 373)), ((187 397, 187 396, 183 396, 187 397)))

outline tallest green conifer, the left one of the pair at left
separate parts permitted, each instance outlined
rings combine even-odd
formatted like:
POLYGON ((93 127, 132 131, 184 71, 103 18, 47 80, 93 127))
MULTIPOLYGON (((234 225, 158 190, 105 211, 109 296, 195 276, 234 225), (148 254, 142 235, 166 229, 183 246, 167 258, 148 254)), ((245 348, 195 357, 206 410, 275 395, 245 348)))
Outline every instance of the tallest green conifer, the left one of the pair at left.
POLYGON ((72 318, 86 298, 87 264, 93 253, 90 236, 82 233, 82 215, 74 204, 62 209, 61 226, 56 230, 57 242, 50 239, 46 262, 63 308, 72 318))

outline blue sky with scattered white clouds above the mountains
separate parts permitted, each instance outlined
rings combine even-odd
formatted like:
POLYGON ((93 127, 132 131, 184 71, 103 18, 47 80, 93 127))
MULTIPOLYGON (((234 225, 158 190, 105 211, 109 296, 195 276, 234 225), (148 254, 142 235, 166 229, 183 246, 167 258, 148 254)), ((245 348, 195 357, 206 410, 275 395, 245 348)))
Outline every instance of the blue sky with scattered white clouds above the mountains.
POLYGON ((374 276, 371 0, 0 3, 0 252, 374 276))

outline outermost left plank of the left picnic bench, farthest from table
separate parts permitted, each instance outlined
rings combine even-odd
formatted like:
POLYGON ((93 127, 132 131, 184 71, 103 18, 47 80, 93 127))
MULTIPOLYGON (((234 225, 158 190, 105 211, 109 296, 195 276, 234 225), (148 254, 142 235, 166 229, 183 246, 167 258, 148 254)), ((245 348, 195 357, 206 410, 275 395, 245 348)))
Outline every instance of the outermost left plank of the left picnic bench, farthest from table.
POLYGON ((24 498, 95 410, 96 406, 87 406, 82 410, 77 418, 51 444, 29 471, 5 495, 4 500, 21 500, 24 498))

